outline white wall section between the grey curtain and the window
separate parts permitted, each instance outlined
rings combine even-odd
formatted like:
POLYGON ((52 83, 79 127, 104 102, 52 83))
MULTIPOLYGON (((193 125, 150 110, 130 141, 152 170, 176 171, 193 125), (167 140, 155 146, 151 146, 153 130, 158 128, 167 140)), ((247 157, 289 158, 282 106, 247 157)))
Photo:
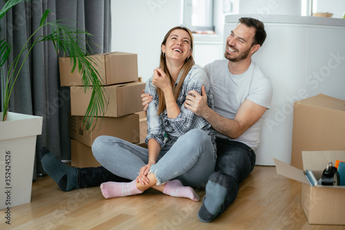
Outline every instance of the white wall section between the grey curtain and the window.
POLYGON ((181 25, 181 0, 112 0, 112 51, 138 55, 139 76, 146 82, 159 66, 161 41, 181 25))

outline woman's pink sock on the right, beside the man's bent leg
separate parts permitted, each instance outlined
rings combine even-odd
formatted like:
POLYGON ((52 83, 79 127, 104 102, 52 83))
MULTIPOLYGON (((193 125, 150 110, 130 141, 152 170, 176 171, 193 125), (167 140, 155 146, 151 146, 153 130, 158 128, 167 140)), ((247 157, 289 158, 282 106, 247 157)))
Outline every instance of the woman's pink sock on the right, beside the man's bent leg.
POLYGON ((164 194, 176 196, 179 198, 189 198, 198 201, 199 195, 189 186, 184 186, 179 180, 169 180, 163 190, 164 194))

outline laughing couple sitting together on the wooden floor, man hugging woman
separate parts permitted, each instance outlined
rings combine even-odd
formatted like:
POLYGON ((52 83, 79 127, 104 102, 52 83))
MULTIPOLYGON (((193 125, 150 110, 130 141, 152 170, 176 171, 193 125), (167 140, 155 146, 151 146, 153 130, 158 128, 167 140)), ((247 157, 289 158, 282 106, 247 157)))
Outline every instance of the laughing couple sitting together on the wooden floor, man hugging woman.
POLYGON ((102 166, 69 167, 42 148, 43 169, 63 191, 100 185, 105 198, 153 188, 198 201, 193 187, 206 186, 198 216, 210 222, 235 200, 239 182, 255 165, 272 86, 251 56, 265 39, 261 21, 241 18, 226 41, 226 59, 201 68, 193 59, 192 32, 172 28, 141 95, 148 148, 100 136, 92 152, 102 166))

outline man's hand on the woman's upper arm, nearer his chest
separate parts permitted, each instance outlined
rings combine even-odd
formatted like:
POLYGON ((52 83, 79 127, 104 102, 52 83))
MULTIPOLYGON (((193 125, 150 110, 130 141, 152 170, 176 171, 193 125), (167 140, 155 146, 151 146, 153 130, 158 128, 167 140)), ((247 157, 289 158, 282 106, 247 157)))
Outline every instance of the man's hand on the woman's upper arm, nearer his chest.
POLYGON ((201 88, 201 95, 195 90, 190 90, 184 102, 184 106, 196 115, 204 117, 205 113, 210 109, 207 105, 205 86, 201 88))

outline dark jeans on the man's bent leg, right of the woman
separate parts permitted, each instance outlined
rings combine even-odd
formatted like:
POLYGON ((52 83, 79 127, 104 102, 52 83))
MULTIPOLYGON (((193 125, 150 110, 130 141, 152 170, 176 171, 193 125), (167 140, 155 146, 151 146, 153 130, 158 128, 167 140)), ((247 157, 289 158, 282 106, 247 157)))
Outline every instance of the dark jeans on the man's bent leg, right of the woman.
POLYGON ((252 148, 241 142, 217 138, 216 143, 217 165, 215 174, 221 173, 222 177, 226 179, 228 189, 224 204, 221 207, 221 213, 223 213, 237 197, 239 183, 253 171, 256 156, 252 148))

